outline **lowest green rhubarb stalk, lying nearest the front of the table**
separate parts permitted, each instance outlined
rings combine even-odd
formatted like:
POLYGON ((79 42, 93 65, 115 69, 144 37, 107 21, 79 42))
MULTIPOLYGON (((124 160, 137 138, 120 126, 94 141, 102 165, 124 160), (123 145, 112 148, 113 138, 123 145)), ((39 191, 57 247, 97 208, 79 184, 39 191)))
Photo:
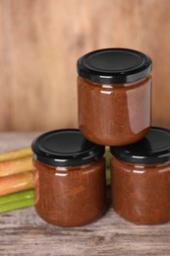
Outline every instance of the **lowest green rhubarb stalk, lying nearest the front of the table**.
POLYGON ((2 214, 5 212, 25 208, 32 205, 33 205, 33 198, 22 200, 22 201, 16 201, 9 204, 3 204, 0 206, 0 213, 2 214))

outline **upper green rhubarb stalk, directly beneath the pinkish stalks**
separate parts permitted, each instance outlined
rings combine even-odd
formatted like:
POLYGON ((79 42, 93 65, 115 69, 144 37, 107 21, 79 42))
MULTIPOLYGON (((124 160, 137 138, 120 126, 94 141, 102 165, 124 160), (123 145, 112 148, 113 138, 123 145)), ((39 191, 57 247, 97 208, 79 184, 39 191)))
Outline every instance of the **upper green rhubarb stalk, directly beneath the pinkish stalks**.
POLYGON ((1 206, 2 205, 8 205, 11 203, 15 203, 18 201, 25 201, 33 198, 33 190, 28 189, 25 191, 5 195, 5 196, 0 196, 0 211, 1 211, 1 206))

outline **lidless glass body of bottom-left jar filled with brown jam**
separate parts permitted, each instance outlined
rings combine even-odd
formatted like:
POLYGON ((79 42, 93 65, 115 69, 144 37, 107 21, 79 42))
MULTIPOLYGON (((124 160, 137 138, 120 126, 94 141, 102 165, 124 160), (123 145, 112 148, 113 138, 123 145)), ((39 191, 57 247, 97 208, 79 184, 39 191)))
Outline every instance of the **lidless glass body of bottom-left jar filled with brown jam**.
POLYGON ((46 222, 82 225, 99 218, 106 207, 104 158, 82 166, 52 167, 33 161, 34 200, 46 222))

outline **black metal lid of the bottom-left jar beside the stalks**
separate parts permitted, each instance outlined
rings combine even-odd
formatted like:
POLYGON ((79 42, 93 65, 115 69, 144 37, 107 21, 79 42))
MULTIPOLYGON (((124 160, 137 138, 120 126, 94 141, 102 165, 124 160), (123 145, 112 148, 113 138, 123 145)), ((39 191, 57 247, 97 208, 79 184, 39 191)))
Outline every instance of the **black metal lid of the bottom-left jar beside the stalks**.
POLYGON ((33 159, 52 166, 73 166, 97 160, 104 147, 85 139, 78 129, 62 129, 44 133, 31 144, 33 159))

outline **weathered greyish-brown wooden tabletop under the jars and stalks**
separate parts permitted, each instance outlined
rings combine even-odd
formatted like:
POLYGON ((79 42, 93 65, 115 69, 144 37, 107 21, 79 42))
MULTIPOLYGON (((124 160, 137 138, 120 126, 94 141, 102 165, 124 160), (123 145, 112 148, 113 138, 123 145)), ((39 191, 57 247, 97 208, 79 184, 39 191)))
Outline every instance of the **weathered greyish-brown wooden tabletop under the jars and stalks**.
MULTIPOLYGON (((28 146, 35 135, 1 133, 0 151, 28 146)), ((82 227, 46 224, 33 207, 1 214, 0 255, 170 255, 170 223, 131 224, 109 205, 100 220, 82 227)))

